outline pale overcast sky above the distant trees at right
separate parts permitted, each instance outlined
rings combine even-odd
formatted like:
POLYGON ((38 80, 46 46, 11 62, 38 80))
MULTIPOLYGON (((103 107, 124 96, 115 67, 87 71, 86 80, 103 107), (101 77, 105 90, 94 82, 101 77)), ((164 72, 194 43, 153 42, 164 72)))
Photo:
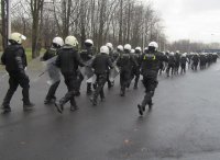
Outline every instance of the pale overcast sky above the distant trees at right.
POLYGON ((170 42, 187 38, 220 43, 220 0, 143 1, 151 1, 160 11, 170 42))

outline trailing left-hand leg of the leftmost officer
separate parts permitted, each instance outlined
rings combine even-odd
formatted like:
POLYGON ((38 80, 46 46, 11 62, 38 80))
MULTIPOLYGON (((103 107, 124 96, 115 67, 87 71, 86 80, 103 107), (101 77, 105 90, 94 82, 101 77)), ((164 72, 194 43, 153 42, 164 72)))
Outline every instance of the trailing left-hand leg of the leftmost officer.
POLYGON ((9 78, 9 90, 3 99, 3 103, 2 103, 2 110, 4 111, 4 113, 7 112, 10 112, 11 108, 10 108, 10 101, 14 94, 14 92, 16 91, 18 89, 18 81, 14 79, 14 77, 11 77, 9 78))

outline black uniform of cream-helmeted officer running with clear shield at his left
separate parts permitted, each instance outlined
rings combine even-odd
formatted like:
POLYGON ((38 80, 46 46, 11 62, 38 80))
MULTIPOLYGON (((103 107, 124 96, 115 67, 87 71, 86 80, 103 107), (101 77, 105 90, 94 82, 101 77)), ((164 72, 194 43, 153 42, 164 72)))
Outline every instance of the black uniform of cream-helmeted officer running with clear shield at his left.
POLYGON ((56 107, 62 113, 64 104, 70 101, 70 111, 75 111, 78 108, 75 101, 75 94, 78 91, 77 69, 78 66, 84 67, 85 65, 78 52, 72 46, 65 45, 57 54, 56 66, 61 68, 68 92, 58 104, 56 103, 56 107))

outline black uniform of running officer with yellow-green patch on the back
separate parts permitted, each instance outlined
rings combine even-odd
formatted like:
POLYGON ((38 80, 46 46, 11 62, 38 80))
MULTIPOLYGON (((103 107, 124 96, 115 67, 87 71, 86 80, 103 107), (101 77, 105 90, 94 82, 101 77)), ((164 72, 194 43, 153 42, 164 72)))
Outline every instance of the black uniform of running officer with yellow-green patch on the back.
POLYGON ((139 104, 140 114, 143 114, 145 106, 148 104, 151 110, 153 103, 152 98, 154 91, 158 84, 157 75, 160 68, 160 61, 167 61, 167 58, 163 53, 155 52, 153 48, 148 47, 148 50, 142 55, 142 66, 141 73, 143 76, 143 84, 145 88, 145 96, 141 104, 139 104))

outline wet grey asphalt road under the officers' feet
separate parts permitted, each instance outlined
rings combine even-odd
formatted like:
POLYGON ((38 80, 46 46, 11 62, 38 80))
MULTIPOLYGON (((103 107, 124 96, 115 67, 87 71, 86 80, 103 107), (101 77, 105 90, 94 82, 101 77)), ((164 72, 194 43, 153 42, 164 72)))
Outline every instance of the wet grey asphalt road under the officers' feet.
MULTIPOLYGON (((12 112, 0 115, 0 160, 219 160, 220 64, 173 78, 160 77, 152 112, 139 116, 143 85, 119 96, 119 80, 106 102, 92 106, 82 88, 79 111, 63 115, 43 104, 46 76, 30 71, 31 113, 22 111, 21 89, 12 112)), ((2 76, 2 73, 0 73, 2 76)), ((8 88, 0 81, 0 101, 8 88)), ((66 92, 61 84, 57 96, 66 92)))

